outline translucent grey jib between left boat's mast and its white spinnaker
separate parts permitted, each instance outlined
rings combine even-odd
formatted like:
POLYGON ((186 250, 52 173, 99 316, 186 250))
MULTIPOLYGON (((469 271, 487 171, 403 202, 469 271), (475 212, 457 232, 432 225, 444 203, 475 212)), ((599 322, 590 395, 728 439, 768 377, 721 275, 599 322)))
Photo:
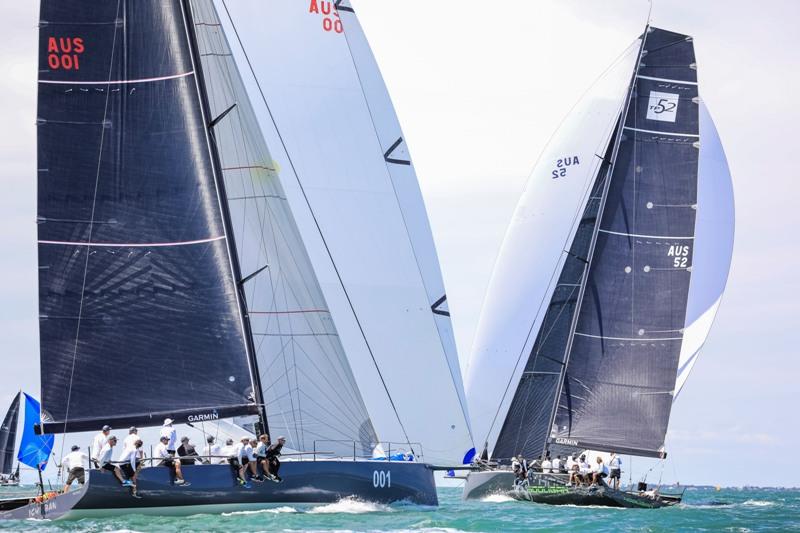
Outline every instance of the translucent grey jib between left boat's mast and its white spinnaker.
POLYGON ((211 0, 192 0, 270 432, 296 450, 370 456, 364 401, 211 0), (227 111, 227 113, 226 113, 227 111))

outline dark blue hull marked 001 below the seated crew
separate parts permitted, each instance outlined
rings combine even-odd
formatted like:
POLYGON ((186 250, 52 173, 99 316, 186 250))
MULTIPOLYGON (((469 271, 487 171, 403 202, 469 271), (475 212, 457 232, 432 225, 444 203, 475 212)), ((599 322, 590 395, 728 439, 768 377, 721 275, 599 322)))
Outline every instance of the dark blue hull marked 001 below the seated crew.
POLYGON ((433 471, 422 463, 297 461, 281 465, 281 483, 239 486, 228 465, 185 466, 188 486, 172 482, 167 468, 139 473, 137 494, 107 473, 92 471, 86 485, 45 504, 0 505, 0 518, 83 518, 121 512, 197 514, 257 509, 275 504, 324 504, 343 498, 377 503, 438 505, 433 471), (14 508, 10 508, 14 507, 14 508))

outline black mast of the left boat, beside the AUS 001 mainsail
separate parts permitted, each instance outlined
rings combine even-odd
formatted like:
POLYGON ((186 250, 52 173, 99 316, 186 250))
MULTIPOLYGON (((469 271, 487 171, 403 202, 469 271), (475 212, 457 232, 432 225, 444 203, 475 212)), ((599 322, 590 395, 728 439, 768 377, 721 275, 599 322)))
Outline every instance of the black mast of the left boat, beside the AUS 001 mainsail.
MULTIPOLYGON (((214 126, 217 123, 217 119, 209 118, 211 116, 211 108, 208 103, 208 94, 205 87, 205 80, 203 78, 202 61, 200 61, 200 53, 197 48, 197 35, 195 33, 194 18, 192 15, 192 6, 189 0, 180 0, 180 2, 184 13, 186 32, 188 34, 189 47, 191 50, 190 54, 195 70, 195 76, 197 79, 197 91, 200 96, 200 104, 203 110, 203 116, 205 117, 206 135, 209 141, 211 161, 212 161, 213 171, 215 174, 214 181, 217 185, 217 191, 220 200, 219 203, 222 210, 222 220, 223 220, 223 225, 225 227, 225 234, 227 236, 226 241, 228 243, 228 252, 229 252, 228 255, 230 256, 231 267, 234 275, 234 283, 236 284, 237 301, 239 303, 239 309, 242 317, 242 329, 244 330, 247 360, 250 367, 249 368, 250 380, 253 386, 253 398, 258 406, 258 418, 261 428, 259 429, 259 427, 257 426, 255 431, 256 434, 262 432, 269 434, 269 424, 267 421, 267 408, 264 402, 263 391, 261 389, 261 375, 258 372, 256 347, 255 343, 253 342, 253 332, 250 326, 250 316, 247 311, 247 301, 245 299, 245 293, 243 290, 244 282, 246 280, 242 276, 241 267, 239 265, 239 256, 236 252, 236 241, 234 239, 234 234, 232 231, 231 214, 230 214, 230 209, 228 207, 228 198, 225 192, 225 180, 222 177, 222 164, 220 162, 217 143, 214 138, 214 126)), ((223 118, 226 113, 223 113, 219 117, 219 119, 223 118)))

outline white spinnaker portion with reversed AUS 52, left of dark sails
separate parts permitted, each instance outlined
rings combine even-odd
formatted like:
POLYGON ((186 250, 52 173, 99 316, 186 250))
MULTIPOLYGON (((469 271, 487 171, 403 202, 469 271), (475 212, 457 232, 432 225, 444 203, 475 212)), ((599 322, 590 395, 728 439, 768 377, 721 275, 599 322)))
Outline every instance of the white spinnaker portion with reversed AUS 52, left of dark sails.
POLYGON ((564 119, 542 152, 506 232, 466 377, 475 440, 479 447, 487 443, 490 452, 622 110, 638 47, 638 41, 631 45, 564 119))

